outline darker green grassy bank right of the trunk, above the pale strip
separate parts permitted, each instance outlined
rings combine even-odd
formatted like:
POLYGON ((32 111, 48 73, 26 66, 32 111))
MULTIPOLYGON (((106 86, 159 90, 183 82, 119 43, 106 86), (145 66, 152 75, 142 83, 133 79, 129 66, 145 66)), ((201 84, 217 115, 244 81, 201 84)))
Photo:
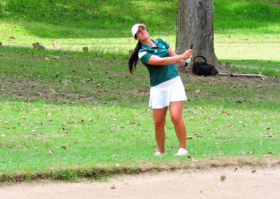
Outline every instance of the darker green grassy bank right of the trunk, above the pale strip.
MULTIPOLYGON (((256 34, 279 32, 280 8, 268 1, 214 1, 214 29, 256 34)), ((271 1, 276 2, 276 1, 271 1)))

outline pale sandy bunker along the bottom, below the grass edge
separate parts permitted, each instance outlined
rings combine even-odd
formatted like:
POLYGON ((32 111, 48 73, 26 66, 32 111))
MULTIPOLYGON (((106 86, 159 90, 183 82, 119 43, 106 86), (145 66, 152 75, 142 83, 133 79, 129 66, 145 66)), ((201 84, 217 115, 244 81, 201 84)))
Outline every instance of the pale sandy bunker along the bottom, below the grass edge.
POLYGON ((118 175, 109 181, 0 186, 0 198, 280 198, 280 167, 118 175), (223 180, 222 180, 223 179, 223 180))

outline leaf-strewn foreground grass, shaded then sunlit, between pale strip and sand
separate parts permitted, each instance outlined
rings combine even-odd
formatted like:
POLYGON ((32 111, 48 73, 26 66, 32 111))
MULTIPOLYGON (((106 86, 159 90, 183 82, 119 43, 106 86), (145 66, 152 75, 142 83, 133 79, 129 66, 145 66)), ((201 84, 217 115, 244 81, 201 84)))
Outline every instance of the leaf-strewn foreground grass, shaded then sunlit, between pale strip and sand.
POLYGON ((167 119, 167 155, 155 158, 141 64, 130 76, 127 58, 114 55, 21 48, 0 54, 1 181, 75 180, 160 163, 168 169, 193 158, 279 157, 277 78, 182 74, 190 100, 184 121, 195 138, 187 142, 190 157, 174 156, 179 146, 167 119))

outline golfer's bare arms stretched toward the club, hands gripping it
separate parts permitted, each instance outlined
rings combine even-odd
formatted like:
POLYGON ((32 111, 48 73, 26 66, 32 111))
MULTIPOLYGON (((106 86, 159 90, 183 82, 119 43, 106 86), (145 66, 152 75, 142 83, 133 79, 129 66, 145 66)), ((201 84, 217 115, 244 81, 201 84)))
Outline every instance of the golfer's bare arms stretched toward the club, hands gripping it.
MULTIPOLYGON (((172 49, 170 49, 172 50, 172 49)), ((185 53, 181 54, 181 55, 176 55, 176 53, 172 50, 172 55, 169 55, 171 57, 159 57, 157 55, 152 55, 150 57, 150 59, 148 60, 148 64, 150 65, 156 65, 156 66, 160 66, 160 65, 168 65, 168 64, 174 64, 176 62, 181 62, 182 60, 186 60, 188 57, 190 57, 190 55, 193 54, 193 50, 186 50, 185 53)))

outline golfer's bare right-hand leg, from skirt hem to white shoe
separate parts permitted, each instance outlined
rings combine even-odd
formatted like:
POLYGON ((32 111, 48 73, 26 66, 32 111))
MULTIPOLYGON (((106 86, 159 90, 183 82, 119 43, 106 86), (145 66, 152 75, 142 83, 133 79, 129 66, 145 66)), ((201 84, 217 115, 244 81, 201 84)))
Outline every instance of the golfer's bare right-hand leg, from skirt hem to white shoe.
POLYGON ((183 123, 182 112, 183 112, 183 101, 181 102, 170 102, 170 117, 174 124, 176 136, 179 140, 180 147, 186 149, 186 126, 183 123))

